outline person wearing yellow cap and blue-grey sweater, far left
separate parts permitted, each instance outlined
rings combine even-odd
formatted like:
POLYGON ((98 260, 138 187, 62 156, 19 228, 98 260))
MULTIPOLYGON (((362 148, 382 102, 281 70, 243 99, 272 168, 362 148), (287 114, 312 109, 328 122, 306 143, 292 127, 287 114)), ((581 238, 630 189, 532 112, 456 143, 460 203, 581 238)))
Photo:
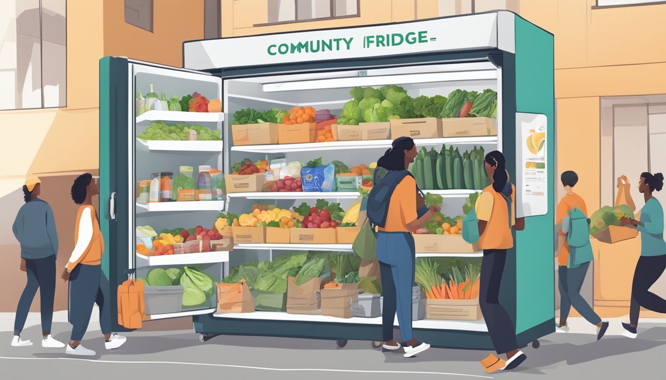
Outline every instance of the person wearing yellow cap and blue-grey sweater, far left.
POLYGON ((30 310, 30 304, 39 288, 42 323, 42 347, 62 348, 65 345, 51 336, 53 298, 55 297, 55 259, 58 254, 58 234, 55 230, 53 210, 39 199, 41 180, 28 178, 23 186, 25 204, 12 226, 16 240, 21 244, 21 271, 27 274, 27 283, 19 299, 14 321, 14 347, 33 343, 21 339, 21 331, 30 310))

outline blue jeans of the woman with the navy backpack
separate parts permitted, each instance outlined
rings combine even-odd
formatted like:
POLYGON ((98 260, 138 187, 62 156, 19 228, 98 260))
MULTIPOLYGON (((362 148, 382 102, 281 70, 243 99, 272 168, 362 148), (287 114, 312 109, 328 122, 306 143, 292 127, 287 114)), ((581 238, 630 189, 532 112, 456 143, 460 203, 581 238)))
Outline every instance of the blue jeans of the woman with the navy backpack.
POLYGON ((378 232, 377 258, 382 275, 382 335, 393 340, 396 312, 403 341, 412 339, 412 286, 416 268, 414 237, 407 232, 378 232))

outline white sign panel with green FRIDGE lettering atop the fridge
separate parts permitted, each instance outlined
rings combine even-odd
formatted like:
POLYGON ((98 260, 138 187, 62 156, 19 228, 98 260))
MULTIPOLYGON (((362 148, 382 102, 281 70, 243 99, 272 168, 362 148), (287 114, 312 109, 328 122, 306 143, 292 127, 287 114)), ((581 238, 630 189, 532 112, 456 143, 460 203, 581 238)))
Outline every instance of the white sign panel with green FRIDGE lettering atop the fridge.
POLYGON ((277 33, 184 43, 184 67, 194 70, 302 63, 499 48, 513 53, 509 12, 390 25, 277 33))

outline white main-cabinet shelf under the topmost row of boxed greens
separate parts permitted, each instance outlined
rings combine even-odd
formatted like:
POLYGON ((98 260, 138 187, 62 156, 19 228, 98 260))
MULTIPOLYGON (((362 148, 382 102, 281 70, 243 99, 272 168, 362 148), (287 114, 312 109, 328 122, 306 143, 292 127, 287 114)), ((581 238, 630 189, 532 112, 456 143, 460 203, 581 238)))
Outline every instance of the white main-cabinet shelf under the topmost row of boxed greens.
MULTIPOLYGON (((318 152, 321 150, 349 150, 390 148, 393 140, 363 140, 311 142, 307 144, 240 145, 232 146, 232 152, 275 154, 284 152, 318 152)), ((462 137, 462 138, 423 138, 414 140, 416 146, 497 144, 497 136, 462 137)))

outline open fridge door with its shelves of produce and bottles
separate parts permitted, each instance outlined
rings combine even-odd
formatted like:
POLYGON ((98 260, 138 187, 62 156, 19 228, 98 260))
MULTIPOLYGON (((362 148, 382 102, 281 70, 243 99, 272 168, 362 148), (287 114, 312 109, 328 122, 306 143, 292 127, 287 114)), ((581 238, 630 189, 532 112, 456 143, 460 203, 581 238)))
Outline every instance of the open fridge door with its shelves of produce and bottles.
POLYGON ((212 188, 198 200, 196 180, 200 166, 222 168, 224 113, 210 102, 222 97, 222 81, 105 57, 100 82, 100 225, 112 305, 106 312, 116 321, 117 287, 136 278, 144 281, 147 320, 211 313, 228 252, 212 251, 212 232, 200 236, 214 230, 224 200, 212 188), (180 199, 176 186, 187 190, 180 199), (194 242, 186 249, 188 230, 194 242), (206 278, 210 286, 195 286, 206 278))

